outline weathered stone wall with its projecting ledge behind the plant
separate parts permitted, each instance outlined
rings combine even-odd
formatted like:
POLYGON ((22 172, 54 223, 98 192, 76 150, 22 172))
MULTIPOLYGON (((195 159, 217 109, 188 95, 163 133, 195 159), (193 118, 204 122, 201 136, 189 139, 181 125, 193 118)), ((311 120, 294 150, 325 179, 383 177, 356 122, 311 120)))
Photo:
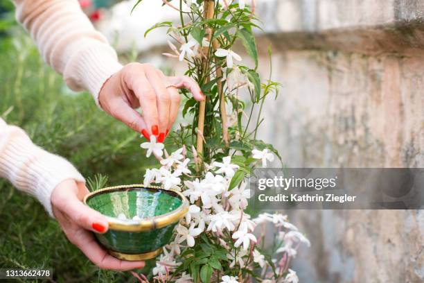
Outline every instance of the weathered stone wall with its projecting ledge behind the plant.
MULTIPOLYGON (((272 44, 273 79, 283 85, 259 137, 288 166, 424 166, 423 0, 256 2, 266 32, 260 73, 272 44)), ((138 42, 155 48, 142 60, 178 73, 182 65, 157 55, 166 37, 151 36, 138 42)), ((294 261, 301 282, 424 282, 422 210, 288 214, 312 242, 294 261)))

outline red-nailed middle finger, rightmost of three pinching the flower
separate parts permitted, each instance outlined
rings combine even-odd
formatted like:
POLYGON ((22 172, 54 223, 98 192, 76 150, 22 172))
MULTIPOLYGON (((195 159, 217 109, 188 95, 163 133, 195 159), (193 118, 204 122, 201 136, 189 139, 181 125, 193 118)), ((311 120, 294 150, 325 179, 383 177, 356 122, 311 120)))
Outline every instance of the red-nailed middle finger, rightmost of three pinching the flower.
POLYGON ((157 110, 159 114, 159 137, 157 141, 164 142, 169 122, 170 95, 166 89, 164 80, 161 78, 161 71, 147 65, 147 67, 145 67, 145 76, 148 78, 157 97, 157 110))

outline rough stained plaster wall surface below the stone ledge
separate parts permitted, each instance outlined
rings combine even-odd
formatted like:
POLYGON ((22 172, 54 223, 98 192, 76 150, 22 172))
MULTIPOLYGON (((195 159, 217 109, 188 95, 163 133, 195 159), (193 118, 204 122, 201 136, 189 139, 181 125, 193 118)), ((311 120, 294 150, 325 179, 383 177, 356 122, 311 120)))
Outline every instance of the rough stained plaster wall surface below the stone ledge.
MULTIPOLYGON (((288 166, 423 167, 423 54, 274 49, 283 88, 259 136, 288 166)), ((312 241, 294 261, 301 282, 424 281, 422 210, 289 215, 312 241)))

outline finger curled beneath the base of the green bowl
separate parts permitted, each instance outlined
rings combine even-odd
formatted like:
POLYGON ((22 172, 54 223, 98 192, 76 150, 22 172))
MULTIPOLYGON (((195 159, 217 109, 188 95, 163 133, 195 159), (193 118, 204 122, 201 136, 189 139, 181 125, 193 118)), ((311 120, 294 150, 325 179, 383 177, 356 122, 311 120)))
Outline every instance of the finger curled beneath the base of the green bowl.
POLYGON ((143 268, 144 266, 144 261, 123 261, 112 257, 112 255, 109 255, 106 250, 98 245, 93 234, 87 231, 80 231, 69 240, 80 248, 88 259, 102 269, 130 271, 135 268, 143 268))

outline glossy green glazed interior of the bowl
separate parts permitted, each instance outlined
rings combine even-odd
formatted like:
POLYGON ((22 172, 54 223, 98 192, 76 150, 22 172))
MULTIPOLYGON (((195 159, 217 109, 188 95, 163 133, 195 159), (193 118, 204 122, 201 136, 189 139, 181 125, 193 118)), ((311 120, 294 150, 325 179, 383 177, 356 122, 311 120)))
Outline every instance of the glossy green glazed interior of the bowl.
POLYGON ((174 191, 146 187, 100 191, 87 199, 89 207, 119 221, 139 221, 169 214, 182 204, 182 198, 174 191))

